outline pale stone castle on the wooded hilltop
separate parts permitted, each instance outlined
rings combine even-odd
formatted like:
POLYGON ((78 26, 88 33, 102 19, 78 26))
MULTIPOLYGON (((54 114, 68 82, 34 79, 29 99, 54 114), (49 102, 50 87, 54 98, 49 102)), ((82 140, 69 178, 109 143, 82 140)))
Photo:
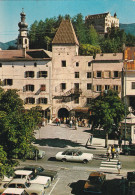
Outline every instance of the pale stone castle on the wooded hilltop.
POLYGON ((85 17, 85 22, 87 26, 93 25, 100 34, 107 33, 108 28, 119 27, 119 19, 116 13, 111 16, 110 12, 88 15, 85 17))

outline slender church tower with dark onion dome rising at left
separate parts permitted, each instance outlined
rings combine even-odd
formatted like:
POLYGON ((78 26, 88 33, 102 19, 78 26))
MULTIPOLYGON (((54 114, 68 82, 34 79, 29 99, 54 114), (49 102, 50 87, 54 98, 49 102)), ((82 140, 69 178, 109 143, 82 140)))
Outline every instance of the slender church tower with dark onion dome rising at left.
POLYGON ((28 24, 25 22, 25 13, 22 10, 20 13, 21 22, 18 23, 19 35, 18 35, 18 49, 29 49, 29 39, 28 39, 28 24))

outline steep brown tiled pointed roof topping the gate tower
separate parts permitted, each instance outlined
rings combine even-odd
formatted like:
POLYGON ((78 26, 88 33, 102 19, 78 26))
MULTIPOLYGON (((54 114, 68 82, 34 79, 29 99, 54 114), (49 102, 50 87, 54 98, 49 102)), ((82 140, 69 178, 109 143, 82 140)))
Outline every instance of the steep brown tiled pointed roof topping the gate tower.
POLYGON ((62 20, 52 44, 76 44, 79 45, 74 28, 70 20, 62 20))

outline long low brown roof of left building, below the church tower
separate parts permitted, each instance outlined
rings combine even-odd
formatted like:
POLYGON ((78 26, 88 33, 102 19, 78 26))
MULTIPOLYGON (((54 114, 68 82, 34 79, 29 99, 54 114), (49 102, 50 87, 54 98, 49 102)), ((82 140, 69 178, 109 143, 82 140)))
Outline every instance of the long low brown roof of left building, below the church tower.
POLYGON ((25 57, 23 50, 0 50, 0 61, 45 60, 51 57, 51 52, 44 49, 26 50, 25 57))

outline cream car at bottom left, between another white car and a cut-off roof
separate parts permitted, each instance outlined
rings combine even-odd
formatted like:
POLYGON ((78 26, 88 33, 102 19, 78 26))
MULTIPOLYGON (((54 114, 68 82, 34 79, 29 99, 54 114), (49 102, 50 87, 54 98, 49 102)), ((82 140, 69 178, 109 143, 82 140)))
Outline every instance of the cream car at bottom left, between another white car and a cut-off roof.
MULTIPOLYGON (((31 184, 29 182, 26 182, 25 179, 13 179, 9 182, 5 187, 8 189, 23 189, 28 194, 34 194, 34 195, 44 195, 45 189, 43 185, 40 184, 31 184)), ((10 190, 9 190, 10 191, 10 190)), ((4 193, 4 192, 3 192, 4 193)))

